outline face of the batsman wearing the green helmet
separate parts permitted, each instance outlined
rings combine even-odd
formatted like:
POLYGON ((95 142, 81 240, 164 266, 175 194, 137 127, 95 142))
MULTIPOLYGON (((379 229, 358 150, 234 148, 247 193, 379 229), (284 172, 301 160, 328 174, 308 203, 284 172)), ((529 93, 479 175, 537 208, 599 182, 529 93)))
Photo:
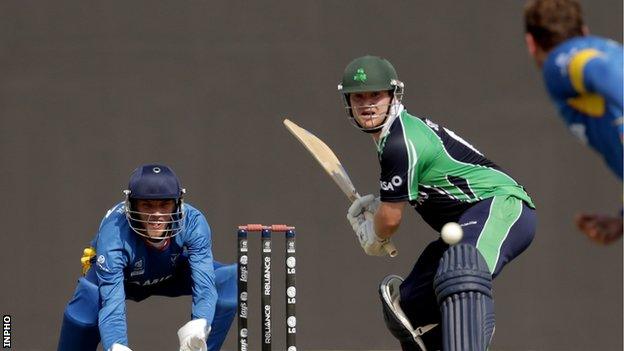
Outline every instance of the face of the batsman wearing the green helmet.
POLYGON ((349 94, 353 116, 364 128, 375 128, 383 123, 390 101, 392 96, 385 90, 349 94))

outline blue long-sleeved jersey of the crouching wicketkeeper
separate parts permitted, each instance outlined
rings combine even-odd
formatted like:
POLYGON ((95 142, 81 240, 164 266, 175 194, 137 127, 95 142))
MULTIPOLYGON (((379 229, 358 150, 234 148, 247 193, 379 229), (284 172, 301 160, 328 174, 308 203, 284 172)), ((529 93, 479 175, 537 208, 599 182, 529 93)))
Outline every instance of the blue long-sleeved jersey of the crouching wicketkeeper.
POLYGON ((217 301, 211 232, 204 215, 184 204, 186 226, 156 249, 128 225, 124 204, 113 207, 100 224, 93 246, 102 307, 99 329, 104 350, 115 342, 127 345, 125 284, 149 285, 170 279, 180 255, 188 256, 193 280, 192 317, 212 324, 217 301))

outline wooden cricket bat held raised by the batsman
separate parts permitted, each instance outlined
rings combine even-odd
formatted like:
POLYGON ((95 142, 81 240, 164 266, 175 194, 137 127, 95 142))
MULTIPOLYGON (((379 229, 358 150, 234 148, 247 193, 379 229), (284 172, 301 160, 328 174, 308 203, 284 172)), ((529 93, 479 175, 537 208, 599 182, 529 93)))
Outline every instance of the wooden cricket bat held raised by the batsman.
MULTIPOLYGON (((342 190, 342 192, 347 196, 349 201, 353 202, 360 197, 360 194, 358 194, 355 190, 355 186, 349 178, 347 171, 338 160, 338 157, 336 157, 336 154, 334 154, 327 144, 289 119, 284 120, 284 125, 286 126, 286 129, 288 129, 288 131, 290 131, 290 133, 294 135, 295 138, 303 144, 303 146, 305 146, 312 156, 314 156, 325 172, 327 172, 336 185, 338 185, 340 190, 342 190)), ((365 212, 365 215, 368 218, 370 214, 365 212)), ((398 254, 398 251, 392 242, 386 243, 383 248, 388 255, 390 255, 390 257, 395 257, 398 254)))

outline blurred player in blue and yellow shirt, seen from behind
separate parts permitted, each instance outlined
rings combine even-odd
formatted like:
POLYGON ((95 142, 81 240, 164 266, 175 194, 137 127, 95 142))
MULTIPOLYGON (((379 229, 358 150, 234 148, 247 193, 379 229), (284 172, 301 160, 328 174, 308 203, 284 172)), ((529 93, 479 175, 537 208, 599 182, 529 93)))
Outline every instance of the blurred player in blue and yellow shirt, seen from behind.
MULTIPOLYGON (((529 1, 524 23, 529 54, 542 71, 561 118, 622 180, 622 45, 589 35, 575 0, 529 1)), ((621 212, 619 216, 582 213, 575 222, 600 244, 622 237, 621 212)))

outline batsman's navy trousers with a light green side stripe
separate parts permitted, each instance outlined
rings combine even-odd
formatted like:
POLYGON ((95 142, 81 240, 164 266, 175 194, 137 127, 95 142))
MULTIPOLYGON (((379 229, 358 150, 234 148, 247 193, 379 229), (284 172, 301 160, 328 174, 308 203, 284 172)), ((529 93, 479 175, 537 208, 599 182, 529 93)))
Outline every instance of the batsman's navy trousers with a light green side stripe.
MULTIPOLYGON (((458 221, 464 231, 461 243, 479 249, 490 265, 492 278, 520 255, 535 235, 535 210, 514 199, 511 203, 505 203, 509 199, 504 197, 480 201, 466 210, 458 221)), ((401 285, 401 308, 414 327, 440 323, 433 280, 448 247, 442 239, 429 243, 401 285)), ((441 340, 441 328, 434 328, 423 335, 428 348, 441 347, 441 340)))

